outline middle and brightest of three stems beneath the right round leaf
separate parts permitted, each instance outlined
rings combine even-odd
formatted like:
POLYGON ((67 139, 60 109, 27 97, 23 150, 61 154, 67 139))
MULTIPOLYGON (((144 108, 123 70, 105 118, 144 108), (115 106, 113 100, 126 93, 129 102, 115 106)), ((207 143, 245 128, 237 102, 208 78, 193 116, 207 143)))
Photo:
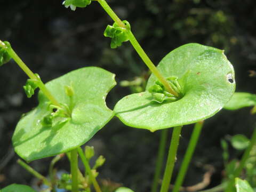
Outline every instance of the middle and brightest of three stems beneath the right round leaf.
POLYGON ((179 140, 180 140, 181 128, 182 126, 177 126, 177 127, 174 127, 172 131, 172 140, 171 140, 171 145, 170 145, 169 153, 167 157, 167 163, 165 166, 164 178, 163 178, 162 187, 160 190, 161 192, 167 192, 170 186, 173 167, 176 161, 176 154, 177 154, 177 149, 178 149, 179 140))

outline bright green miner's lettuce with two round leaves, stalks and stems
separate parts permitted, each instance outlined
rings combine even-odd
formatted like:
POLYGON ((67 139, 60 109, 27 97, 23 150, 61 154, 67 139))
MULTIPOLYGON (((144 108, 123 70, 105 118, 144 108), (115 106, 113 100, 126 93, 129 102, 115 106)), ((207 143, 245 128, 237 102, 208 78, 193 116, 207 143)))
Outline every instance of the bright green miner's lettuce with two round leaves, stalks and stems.
MULTIPOLYGON (((11 58, 17 62, 29 77, 23 86, 28 98, 37 88, 40 90, 38 106, 23 115, 15 128, 12 138, 15 152, 26 162, 55 156, 51 163, 52 168, 62 154, 66 154, 71 174, 63 174, 61 179, 54 179, 52 176, 49 181, 25 162, 19 160, 18 163, 43 181, 47 186, 44 191, 57 191, 57 188, 72 192, 91 191, 92 183, 95 191, 100 192, 101 188, 95 179, 98 175, 95 170, 97 166, 91 168, 89 165, 92 149, 83 151, 81 146, 111 118, 117 116, 125 125, 134 128, 151 132, 164 130, 152 192, 158 188, 159 171, 163 164, 162 149, 166 145, 166 129, 172 127, 172 139, 160 189, 161 192, 166 192, 169 190, 182 126, 195 123, 173 188, 173 192, 177 192, 185 178, 204 119, 218 113, 235 92, 233 66, 223 50, 189 43, 171 51, 155 67, 134 37, 130 23, 119 19, 105 0, 66 0, 63 5, 75 11, 77 7, 86 7, 92 2, 98 2, 114 21, 103 33, 111 38, 110 47, 115 49, 123 42, 130 41, 150 69, 152 74, 146 90, 126 95, 116 103, 114 110, 110 110, 105 99, 107 93, 116 85, 114 74, 98 67, 84 67, 44 84, 39 75, 34 74, 13 51, 10 43, 1 41, 0 65, 11 58), (78 155, 86 169, 84 174, 78 169, 78 155)), ((97 161, 98 166, 101 166, 105 160, 101 157, 97 161)), ((239 173, 240 169, 243 167, 239 168, 239 173)), ((234 179, 235 177, 230 178, 231 187, 227 187, 227 191, 235 187, 234 179)), ((34 191, 28 186, 17 184, 2 189, 3 192, 22 190, 34 191)), ((132 192, 124 187, 116 191, 132 192)))

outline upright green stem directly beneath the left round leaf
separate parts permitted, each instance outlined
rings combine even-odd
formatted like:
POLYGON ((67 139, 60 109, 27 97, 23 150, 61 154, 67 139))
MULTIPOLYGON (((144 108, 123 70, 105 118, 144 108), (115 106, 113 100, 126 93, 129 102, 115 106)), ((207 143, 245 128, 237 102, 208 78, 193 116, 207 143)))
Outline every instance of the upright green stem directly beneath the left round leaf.
POLYGON ((78 158, 77 149, 70 151, 70 167, 71 167, 71 177, 72 177, 72 192, 78 192, 78 158))

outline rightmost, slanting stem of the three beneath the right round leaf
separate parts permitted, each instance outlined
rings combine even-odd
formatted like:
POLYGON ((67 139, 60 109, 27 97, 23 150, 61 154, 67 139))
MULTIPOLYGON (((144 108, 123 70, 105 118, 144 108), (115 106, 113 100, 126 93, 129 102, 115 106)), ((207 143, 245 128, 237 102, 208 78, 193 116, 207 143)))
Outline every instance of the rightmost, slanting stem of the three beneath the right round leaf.
POLYGON ((180 186, 183 183, 183 180, 184 180, 185 175, 187 173, 188 165, 189 165, 189 163, 191 161, 191 157, 193 156, 193 153, 195 151, 196 144, 197 144, 199 135, 201 133, 202 127, 203 127, 203 121, 197 122, 195 124, 193 133, 191 135, 191 138, 190 138, 190 141, 189 141, 189 144, 188 144, 186 154, 183 157, 183 162, 182 162, 181 167, 179 169, 179 174, 178 174, 178 177, 175 181, 174 188, 173 188, 172 192, 178 192, 179 189, 180 189, 180 186))

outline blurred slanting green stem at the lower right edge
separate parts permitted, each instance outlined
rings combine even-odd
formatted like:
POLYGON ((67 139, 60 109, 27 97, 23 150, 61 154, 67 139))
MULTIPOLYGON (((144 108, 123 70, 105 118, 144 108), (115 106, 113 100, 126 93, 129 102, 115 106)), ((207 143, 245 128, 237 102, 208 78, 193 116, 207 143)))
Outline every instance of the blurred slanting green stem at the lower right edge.
POLYGON ((254 145, 256 145, 256 129, 254 129, 254 131, 253 131, 252 138, 251 138, 251 141, 250 141, 250 145, 244 151, 242 159, 239 162, 239 165, 238 165, 237 169, 235 170, 235 173, 234 173, 233 177, 231 177, 231 179, 229 180, 228 187, 226 188, 225 192, 232 191, 233 187, 235 186, 235 178, 239 177, 239 175, 241 174, 241 172, 242 172, 242 170, 245 166, 245 163, 246 163, 247 159, 249 158, 251 150, 252 150, 254 145))

